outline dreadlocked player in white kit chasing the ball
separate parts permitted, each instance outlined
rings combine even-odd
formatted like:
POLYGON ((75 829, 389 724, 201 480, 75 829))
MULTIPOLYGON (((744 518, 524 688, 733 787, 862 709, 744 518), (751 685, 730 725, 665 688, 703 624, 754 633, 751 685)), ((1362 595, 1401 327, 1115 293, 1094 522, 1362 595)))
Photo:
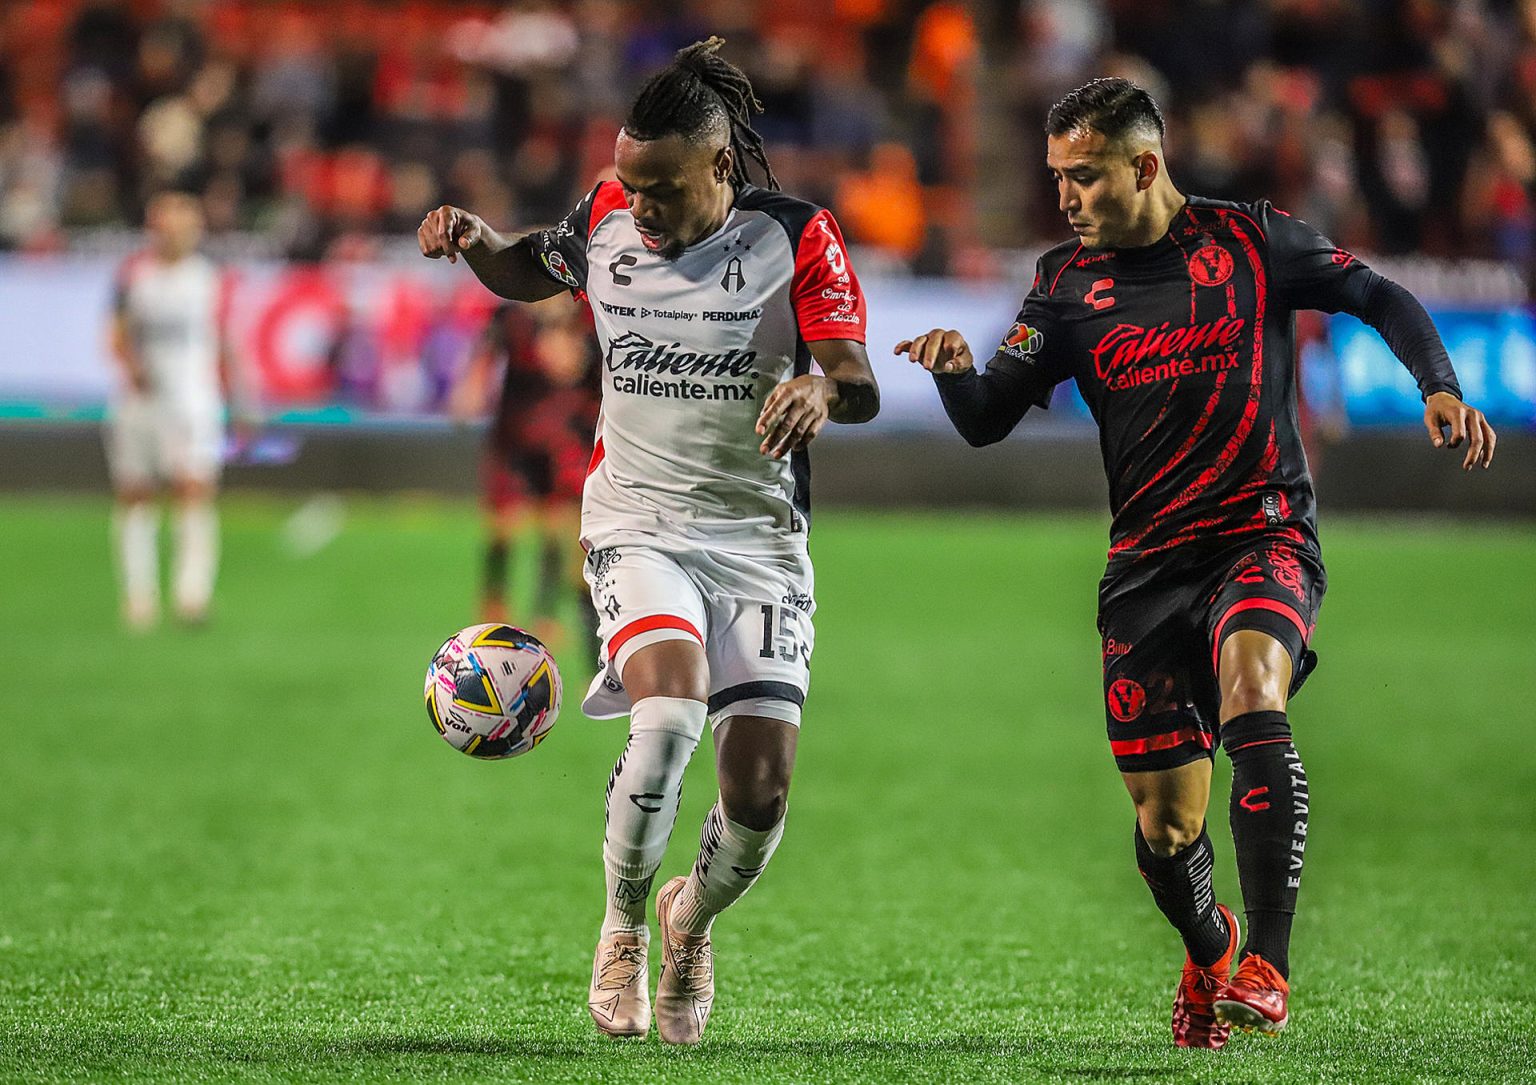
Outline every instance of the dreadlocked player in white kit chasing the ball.
POLYGON ((713 724, 719 801, 687 878, 656 896, 656 1025, 696 1044, 714 999, 710 924, 783 831, 816 610, 806 444, 879 410, 865 303, 833 217, 777 192, 751 85, 711 38, 639 92, 604 181, 518 240, 458 207, 421 224, 496 294, 591 301, 602 416, 582 493, 602 665, 582 708, 630 716, 608 781, 607 910, 588 1010, 650 1030, 647 902, 682 775, 713 724), (768 187, 751 184, 751 157, 768 187), (811 372, 811 361, 823 375, 811 372))

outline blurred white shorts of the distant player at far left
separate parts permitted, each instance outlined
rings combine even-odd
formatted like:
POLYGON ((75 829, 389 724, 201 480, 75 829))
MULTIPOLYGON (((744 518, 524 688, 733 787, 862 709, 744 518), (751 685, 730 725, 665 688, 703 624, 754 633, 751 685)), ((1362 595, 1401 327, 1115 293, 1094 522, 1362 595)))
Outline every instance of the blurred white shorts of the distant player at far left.
POLYGON ((108 413, 106 458, 120 487, 157 481, 214 483, 224 447, 220 410, 124 395, 108 413))

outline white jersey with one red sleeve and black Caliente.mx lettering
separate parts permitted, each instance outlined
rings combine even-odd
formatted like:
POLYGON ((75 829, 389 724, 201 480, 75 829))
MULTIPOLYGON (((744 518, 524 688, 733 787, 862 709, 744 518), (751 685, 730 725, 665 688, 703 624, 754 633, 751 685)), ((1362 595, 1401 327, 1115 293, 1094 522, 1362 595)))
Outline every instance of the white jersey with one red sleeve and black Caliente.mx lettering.
POLYGON ((533 235, 545 272, 591 304, 602 415, 582 493, 588 549, 693 539, 740 553, 805 547, 809 460, 763 455, 774 386, 811 372, 808 341, 865 340, 865 301, 831 214, 754 186, 668 260, 604 181, 533 235))

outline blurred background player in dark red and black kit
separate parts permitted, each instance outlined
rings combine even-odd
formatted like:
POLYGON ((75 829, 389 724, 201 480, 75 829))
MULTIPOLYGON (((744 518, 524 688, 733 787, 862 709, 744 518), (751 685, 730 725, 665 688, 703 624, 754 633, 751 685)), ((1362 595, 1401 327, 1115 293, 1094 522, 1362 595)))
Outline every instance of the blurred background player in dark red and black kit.
POLYGON ((527 613, 533 632, 553 647, 564 632, 574 636, 591 624, 585 553, 576 539, 602 395, 594 355, 584 304, 558 298, 505 304, 492 315, 453 390, 461 421, 492 410, 481 467, 487 535, 481 619, 507 621, 508 569, 519 576, 531 569, 533 584, 513 582, 511 598, 518 615, 527 613), (531 562, 515 559, 511 544, 519 539, 535 550, 531 562), (565 606, 573 589, 576 613, 565 606))

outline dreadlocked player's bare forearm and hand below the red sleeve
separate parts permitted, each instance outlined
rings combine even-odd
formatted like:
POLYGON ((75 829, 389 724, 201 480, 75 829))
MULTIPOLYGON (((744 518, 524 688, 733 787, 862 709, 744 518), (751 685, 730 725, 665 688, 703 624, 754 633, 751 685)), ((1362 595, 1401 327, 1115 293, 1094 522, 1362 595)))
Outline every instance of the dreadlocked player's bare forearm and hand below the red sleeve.
POLYGON ((813 340, 809 347, 822 373, 785 381, 757 415, 760 450, 774 460, 803 449, 828 421, 866 423, 880 413, 880 387, 863 343, 813 340))

